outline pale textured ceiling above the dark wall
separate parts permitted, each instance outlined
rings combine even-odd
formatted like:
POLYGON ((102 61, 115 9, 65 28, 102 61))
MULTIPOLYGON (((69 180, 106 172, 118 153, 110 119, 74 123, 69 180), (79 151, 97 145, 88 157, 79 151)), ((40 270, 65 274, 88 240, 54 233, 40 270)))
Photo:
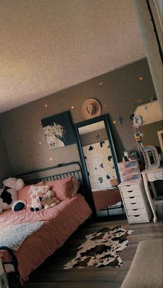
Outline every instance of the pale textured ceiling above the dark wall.
POLYGON ((0 112, 145 56, 131 0, 0 0, 0 112))

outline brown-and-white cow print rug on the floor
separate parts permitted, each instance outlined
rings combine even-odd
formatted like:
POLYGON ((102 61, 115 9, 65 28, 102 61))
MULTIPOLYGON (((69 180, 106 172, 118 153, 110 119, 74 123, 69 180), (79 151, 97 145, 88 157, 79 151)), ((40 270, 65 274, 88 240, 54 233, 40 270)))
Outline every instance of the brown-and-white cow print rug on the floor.
POLYGON ((122 259, 119 257, 119 253, 128 245, 126 237, 131 233, 133 233, 132 230, 125 230, 121 226, 117 226, 113 229, 105 227, 99 232, 86 236, 86 242, 78 247, 77 256, 63 268, 121 266, 122 259))

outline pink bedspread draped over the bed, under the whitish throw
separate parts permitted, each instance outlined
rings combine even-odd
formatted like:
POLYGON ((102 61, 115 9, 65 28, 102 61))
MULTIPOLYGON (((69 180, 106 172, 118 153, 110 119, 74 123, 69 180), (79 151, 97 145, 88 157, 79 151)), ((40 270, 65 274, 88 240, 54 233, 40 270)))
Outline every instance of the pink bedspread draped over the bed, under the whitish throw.
MULTIPOLYGON (((30 235, 15 253, 19 263, 21 282, 28 280, 30 273, 61 247, 68 237, 90 216, 91 209, 80 194, 64 200, 56 207, 39 212, 6 210, 0 214, 1 225, 44 221, 44 227, 30 235)), ((2 257, 2 251, 0 252, 2 257)))

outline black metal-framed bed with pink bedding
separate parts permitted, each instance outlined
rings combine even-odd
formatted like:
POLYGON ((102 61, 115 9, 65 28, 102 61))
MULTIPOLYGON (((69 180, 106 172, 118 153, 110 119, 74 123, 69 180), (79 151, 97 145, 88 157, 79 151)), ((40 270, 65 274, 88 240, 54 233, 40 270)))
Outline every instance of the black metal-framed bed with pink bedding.
MULTIPOLYGON (((79 163, 74 162, 21 174, 18 177, 25 179, 27 184, 25 188, 28 188, 30 185, 37 185, 41 182, 45 182, 45 185, 47 185, 54 181, 55 183, 67 181, 66 179, 72 177, 81 181, 82 175, 79 163), (67 165, 68 172, 52 175, 51 171, 53 169, 65 168, 67 165), (70 167, 73 165, 78 168, 71 170, 70 167), (41 174, 47 174, 47 172, 50 176, 40 176, 41 174), (28 178, 30 180, 27 181, 28 178)), ((84 198, 82 188, 80 187, 78 193, 72 198, 61 200, 57 206, 50 209, 41 209, 39 212, 30 212, 30 209, 12 212, 11 209, 8 209, 0 214, 1 229, 12 225, 18 227, 23 223, 44 223, 35 233, 30 234, 23 240, 17 251, 13 252, 10 247, 5 245, 0 247, 0 257, 5 271, 7 273, 15 271, 21 285, 29 279, 30 273, 41 265, 48 256, 53 254, 56 249, 64 245, 77 227, 92 214, 84 198), (10 261, 12 261, 12 265, 10 261)), ((26 193, 29 193, 29 189, 21 191, 21 198, 26 198, 26 193)))

